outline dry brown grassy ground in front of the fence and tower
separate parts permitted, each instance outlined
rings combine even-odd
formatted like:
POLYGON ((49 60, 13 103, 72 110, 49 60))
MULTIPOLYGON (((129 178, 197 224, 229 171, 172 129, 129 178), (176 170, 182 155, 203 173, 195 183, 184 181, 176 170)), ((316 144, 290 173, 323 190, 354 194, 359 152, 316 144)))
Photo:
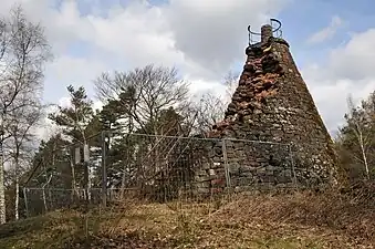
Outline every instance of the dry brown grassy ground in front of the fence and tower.
POLYGON ((133 201, 87 215, 61 210, 1 226, 0 248, 375 248, 373 229, 358 225, 374 217, 350 221, 341 210, 345 219, 332 218, 332 208, 324 217, 317 210, 321 199, 294 194, 210 205, 133 201))

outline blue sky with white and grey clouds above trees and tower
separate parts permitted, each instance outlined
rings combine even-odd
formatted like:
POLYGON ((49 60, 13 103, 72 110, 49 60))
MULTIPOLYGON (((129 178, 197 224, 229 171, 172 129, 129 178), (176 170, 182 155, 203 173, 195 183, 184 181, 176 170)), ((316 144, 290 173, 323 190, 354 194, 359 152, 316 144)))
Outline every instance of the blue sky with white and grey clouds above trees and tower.
POLYGON ((44 102, 64 104, 66 86, 95 97, 102 72, 149 63, 176 66, 191 93, 223 92, 229 71, 241 72, 247 27, 270 18, 283 38, 331 134, 351 94, 375 90, 373 0, 1 0, 1 15, 22 3, 41 22, 54 60, 46 64, 44 102), (374 73, 373 73, 374 72, 374 73))

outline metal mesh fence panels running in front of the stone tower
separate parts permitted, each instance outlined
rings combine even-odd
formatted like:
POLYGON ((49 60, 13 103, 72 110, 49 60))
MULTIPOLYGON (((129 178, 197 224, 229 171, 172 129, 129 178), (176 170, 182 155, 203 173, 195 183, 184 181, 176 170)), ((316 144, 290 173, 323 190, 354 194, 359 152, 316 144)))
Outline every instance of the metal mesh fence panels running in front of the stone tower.
POLYGON ((24 188, 29 216, 82 203, 207 199, 299 185, 292 147, 278 143, 104 132, 52 154, 24 188))

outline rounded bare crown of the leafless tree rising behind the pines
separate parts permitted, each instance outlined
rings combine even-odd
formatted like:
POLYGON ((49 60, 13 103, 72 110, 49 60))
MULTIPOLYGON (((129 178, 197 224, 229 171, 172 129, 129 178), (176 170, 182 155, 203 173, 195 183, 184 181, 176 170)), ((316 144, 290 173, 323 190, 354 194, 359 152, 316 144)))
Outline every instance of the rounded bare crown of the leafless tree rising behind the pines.
POLYGON ((173 106, 178 112, 188 100, 188 84, 178 79, 176 69, 164 66, 146 65, 114 75, 103 73, 94 83, 101 101, 118 101, 128 122, 144 132, 150 125, 154 135, 160 135, 156 121, 163 110, 173 106))

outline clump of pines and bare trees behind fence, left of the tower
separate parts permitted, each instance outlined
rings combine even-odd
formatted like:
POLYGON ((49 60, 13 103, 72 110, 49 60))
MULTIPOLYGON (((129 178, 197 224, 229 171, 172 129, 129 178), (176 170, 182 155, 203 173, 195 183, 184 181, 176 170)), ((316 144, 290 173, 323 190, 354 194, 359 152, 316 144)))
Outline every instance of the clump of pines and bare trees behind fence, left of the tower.
MULTIPOLYGON (((88 167, 91 186, 101 187, 102 146, 105 146, 110 187, 145 187, 147 181, 157 178, 154 189, 177 195, 176 183, 181 181, 178 177, 190 174, 183 155, 186 144, 174 138, 160 139, 160 136, 190 135, 187 84, 177 77, 175 69, 147 65, 103 74, 97 86, 105 93, 101 111, 93 110, 83 86, 69 85, 70 105, 58 106, 58 111, 49 115, 61 134, 43 142, 35 155, 33 168, 38 172, 33 174, 33 185, 41 187, 53 175, 50 187, 84 187, 88 167), (101 136, 103 131, 111 132, 106 133, 105 141, 101 136), (131 135, 134 133, 145 135, 131 135), (61 144, 55 147, 58 154, 51 148, 55 144, 61 144), (90 146, 87 167, 73 162, 75 148, 81 147, 82 154, 84 144, 90 146)), ((192 153, 191 148, 187 152, 192 153)))

